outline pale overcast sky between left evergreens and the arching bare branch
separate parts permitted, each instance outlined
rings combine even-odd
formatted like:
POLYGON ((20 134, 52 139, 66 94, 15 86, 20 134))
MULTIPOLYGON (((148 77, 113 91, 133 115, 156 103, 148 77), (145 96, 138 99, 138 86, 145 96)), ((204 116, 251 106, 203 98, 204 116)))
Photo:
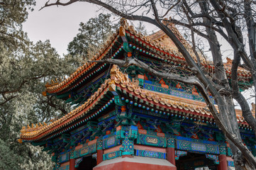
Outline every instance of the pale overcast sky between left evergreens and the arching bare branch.
POLYGON ((95 5, 77 2, 69 6, 50 6, 38 11, 46 0, 36 1, 35 10, 30 12, 23 23, 23 30, 33 42, 50 40, 52 47, 62 55, 67 53, 67 44, 78 33, 79 23, 97 16, 95 5))

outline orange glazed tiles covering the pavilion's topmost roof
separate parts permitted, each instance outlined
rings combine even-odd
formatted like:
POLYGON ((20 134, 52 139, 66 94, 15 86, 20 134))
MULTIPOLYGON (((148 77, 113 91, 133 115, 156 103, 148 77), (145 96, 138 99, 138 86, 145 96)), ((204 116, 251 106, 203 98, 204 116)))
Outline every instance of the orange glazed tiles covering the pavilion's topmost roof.
MULTIPOLYGON (((157 31, 157 33, 154 33, 152 35, 145 36, 142 33, 138 33, 133 28, 133 26, 129 26, 127 21, 124 19, 121 20, 121 27, 126 30, 126 35, 129 34, 130 37, 134 37, 135 39, 137 38, 139 41, 145 42, 149 48, 154 48, 155 50, 159 51, 158 53, 155 52, 156 57, 159 57, 161 59, 164 58, 168 60, 173 60, 177 62, 185 62, 184 57, 182 56, 181 52, 179 52, 177 47, 174 45, 174 42, 172 42, 172 40, 169 37, 167 37, 167 35, 162 30, 157 31)), ((179 33, 179 30, 177 30, 174 24, 170 24, 169 28, 175 33, 175 35, 177 35, 177 38, 182 42, 184 47, 187 48, 189 54, 196 61, 196 55, 194 55, 194 52, 189 42, 187 42, 187 40, 183 38, 183 36, 181 35, 181 33, 179 33)), ((91 61, 102 60, 106 56, 108 51, 111 50, 111 47, 113 46, 114 42, 116 42, 116 40, 118 39, 119 31, 120 30, 116 30, 116 33, 113 33, 109 40, 106 41, 106 43, 104 44, 104 47, 102 47, 101 50, 99 50, 99 52, 91 58, 91 61)), ((199 57, 204 67, 214 69, 213 62, 206 61, 204 57, 202 57, 200 54, 199 57)), ((224 67, 228 75, 231 74, 231 64, 230 62, 224 64, 224 67)), ((96 63, 94 62, 85 63, 64 81, 61 81, 60 83, 55 82, 53 84, 46 84, 46 91, 50 94, 54 94, 67 89, 70 84, 76 81, 79 77, 82 77, 82 74, 84 74, 85 72, 89 72, 95 65, 96 63)), ((246 69, 239 67, 238 77, 244 77, 245 79, 249 79, 251 77, 251 74, 246 69)))

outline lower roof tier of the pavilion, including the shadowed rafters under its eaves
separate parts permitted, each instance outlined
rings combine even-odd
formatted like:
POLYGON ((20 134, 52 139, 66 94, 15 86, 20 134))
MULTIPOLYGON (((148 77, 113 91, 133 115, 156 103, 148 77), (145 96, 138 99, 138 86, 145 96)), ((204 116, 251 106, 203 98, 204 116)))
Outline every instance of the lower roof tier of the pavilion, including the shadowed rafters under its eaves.
MULTIPOLYGON (((108 97, 108 102, 105 101, 102 106, 102 100, 105 98, 105 95, 111 91, 120 91, 122 94, 129 94, 129 96, 123 98, 123 100, 128 99, 129 101, 133 101, 133 99, 136 98, 135 101, 137 101, 138 104, 145 106, 145 108, 155 108, 155 111, 158 112, 159 110, 159 114, 163 114, 161 112, 169 112, 177 115, 185 115, 191 118, 196 117, 213 120, 213 116, 206 109, 206 103, 142 89, 138 86, 137 82, 130 81, 128 75, 123 74, 118 67, 114 65, 111 69, 111 79, 106 79, 104 84, 101 84, 101 87, 82 106, 79 106, 74 111, 67 113, 67 115, 48 125, 44 124, 28 128, 24 127, 21 130, 21 140, 30 142, 48 140, 57 135, 61 135, 67 130, 72 130, 81 123, 100 114, 102 108, 107 105, 105 105, 105 103, 109 104, 110 101, 113 101, 112 97, 108 97), (99 103, 101 103, 102 107, 96 108, 99 103), (162 109, 160 110, 159 108, 162 109)), ((242 123, 243 126, 249 127, 240 115, 240 111, 238 111, 237 120, 238 123, 242 123)))

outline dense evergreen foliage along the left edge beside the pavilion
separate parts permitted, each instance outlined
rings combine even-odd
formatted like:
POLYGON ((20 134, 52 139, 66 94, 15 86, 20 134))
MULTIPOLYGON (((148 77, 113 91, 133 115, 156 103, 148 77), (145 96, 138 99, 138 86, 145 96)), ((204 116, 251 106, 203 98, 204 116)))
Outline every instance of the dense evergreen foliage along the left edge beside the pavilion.
POLYGON ((22 23, 34 0, 0 2, 0 169, 52 169, 51 157, 40 147, 17 139, 23 125, 48 122, 70 106, 44 97, 46 82, 74 72, 74 57, 60 57, 50 41, 33 44, 22 23))

